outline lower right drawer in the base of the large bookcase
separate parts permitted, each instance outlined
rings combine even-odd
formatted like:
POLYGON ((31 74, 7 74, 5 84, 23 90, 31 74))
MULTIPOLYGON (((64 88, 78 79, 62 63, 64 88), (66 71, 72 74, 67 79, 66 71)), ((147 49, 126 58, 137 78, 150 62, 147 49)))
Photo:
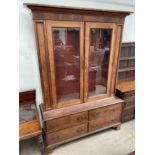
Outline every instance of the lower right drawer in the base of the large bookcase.
POLYGON ((121 121, 121 115, 118 113, 115 113, 112 115, 107 115, 106 117, 90 121, 89 122, 89 132, 108 127, 115 123, 119 123, 120 121, 121 121))

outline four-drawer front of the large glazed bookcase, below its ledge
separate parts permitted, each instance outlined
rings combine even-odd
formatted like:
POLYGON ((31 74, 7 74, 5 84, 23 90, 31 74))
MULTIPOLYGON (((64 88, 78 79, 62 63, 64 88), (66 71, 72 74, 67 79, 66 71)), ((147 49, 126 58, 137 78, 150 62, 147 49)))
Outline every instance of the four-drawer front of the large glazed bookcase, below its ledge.
MULTIPOLYGON (((121 123, 122 102, 102 105, 84 112, 45 121, 47 148, 77 139, 121 123)), ((92 105, 91 105, 92 106, 92 105)), ((68 109, 66 109, 68 110, 68 109)))

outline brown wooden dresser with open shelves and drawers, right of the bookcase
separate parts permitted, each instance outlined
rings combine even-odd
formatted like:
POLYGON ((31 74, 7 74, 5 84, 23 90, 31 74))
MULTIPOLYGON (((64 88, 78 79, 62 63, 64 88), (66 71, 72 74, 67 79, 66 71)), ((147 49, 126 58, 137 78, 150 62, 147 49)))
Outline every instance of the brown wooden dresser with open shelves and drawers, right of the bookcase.
POLYGON ((122 121, 135 118, 135 43, 123 43, 119 59, 116 95, 124 100, 122 121))

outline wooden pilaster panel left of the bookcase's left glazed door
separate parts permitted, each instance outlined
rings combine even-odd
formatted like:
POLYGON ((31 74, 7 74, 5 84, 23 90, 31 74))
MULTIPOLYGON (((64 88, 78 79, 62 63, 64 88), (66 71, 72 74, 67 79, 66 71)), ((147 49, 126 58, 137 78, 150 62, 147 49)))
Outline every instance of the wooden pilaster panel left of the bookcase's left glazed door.
POLYGON ((37 39, 37 47, 38 47, 38 57, 39 57, 39 67, 40 67, 40 74, 41 74, 44 108, 51 109, 52 101, 50 99, 44 22, 42 21, 36 22, 35 27, 36 27, 36 39, 37 39))

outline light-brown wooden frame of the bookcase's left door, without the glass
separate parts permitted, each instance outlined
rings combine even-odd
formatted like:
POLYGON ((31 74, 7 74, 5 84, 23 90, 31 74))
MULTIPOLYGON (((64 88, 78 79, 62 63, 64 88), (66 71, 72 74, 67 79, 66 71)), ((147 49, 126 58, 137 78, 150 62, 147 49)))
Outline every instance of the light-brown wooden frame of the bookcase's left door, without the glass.
POLYGON ((49 65, 50 65, 50 78, 51 78, 51 93, 53 99, 53 108, 63 108, 75 104, 83 103, 83 61, 84 61, 84 22, 73 22, 73 21, 51 21, 46 20, 47 29, 47 42, 48 42, 48 54, 49 54, 49 65), (54 63, 54 51, 53 51, 53 36, 52 27, 77 27, 80 29, 80 99, 73 99, 65 102, 57 101, 56 94, 56 77, 55 77, 55 63, 54 63))

